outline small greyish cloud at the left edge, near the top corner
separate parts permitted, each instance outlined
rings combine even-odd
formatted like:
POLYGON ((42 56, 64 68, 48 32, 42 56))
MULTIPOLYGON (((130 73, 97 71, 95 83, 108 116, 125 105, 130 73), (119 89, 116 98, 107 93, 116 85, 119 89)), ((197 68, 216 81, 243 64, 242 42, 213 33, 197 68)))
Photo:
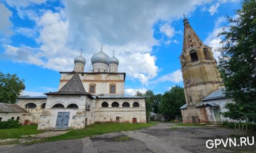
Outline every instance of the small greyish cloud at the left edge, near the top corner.
POLYGON ((12 16, 12 13, 5 7, 5 5, 0 3, 0 14, 0 36, 10 36, 13 33, 10 29, 10 27, 13 26, 13 23, 11 23, 9 19, 12 16))

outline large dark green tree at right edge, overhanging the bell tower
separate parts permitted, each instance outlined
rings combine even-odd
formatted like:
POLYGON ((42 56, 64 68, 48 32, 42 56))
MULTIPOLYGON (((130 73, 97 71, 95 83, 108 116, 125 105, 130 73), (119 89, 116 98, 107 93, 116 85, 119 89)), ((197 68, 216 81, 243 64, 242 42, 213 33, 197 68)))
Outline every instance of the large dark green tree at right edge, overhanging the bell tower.
POLYGON ((225 117, 256 122, 256 2, 243 1, 236 11, 237 19, 228 17, 222 40, 220 72, 226 87, 225 94, 234 103, 226 104, 225 117))

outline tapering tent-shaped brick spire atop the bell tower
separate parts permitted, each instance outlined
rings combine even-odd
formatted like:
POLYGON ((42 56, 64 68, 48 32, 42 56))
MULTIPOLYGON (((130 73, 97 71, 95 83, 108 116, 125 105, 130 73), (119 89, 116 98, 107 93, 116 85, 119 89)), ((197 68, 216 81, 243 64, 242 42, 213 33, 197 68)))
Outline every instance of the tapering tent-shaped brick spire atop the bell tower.
POLYGON ((203 41, 200 40, 200 37, 197 36, 196 32, 189 25, 188 19, 184 14, 184 35, 183 35, 183 49, 182 52, 186 52, 187 49, 195 46, 204 45, 203 41))

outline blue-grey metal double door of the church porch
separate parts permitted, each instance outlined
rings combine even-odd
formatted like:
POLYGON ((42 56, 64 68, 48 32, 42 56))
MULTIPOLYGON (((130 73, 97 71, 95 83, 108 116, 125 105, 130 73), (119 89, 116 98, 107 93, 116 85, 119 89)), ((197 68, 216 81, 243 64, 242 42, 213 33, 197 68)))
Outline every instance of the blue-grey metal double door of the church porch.
POLYGON ((58 112, 56 129, 67 129, 69 120, 69 112, 58 112))

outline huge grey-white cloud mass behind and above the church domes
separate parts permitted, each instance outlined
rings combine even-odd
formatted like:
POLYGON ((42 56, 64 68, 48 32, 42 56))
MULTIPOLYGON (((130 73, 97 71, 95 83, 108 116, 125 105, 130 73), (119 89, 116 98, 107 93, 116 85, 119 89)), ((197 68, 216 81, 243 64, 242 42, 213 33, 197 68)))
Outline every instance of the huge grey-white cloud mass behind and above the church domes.
MULTIPOLYGON (((20 16, 26 14, 36 22, 39 46, 6 45, 6 54, 13 61, 71 71, 73 59, 82 48, 87 61, 85 69, 89 70, 90 57, 99 51, 98 45, 103 42, 106 54, 117 50, 120 72, 147 84, 158 75, 156 57, 151 55, 152 47, 159 44, 153 36, 154 24, 159 20, 170 23, 171 19, 182 18, 183 13, 190 14, 196 6, 209 1, 186 0, 182 2, 184 5, 180 5, 180 1, 64 1, 65 7, 59 8, 59 12, 39 10, 36 14, 34 11, 26 12, 25 8, 31 3, 41 4, 44 1, 10 1, 9 5, 20 8, 20 16), (11 47, 16 51, 11 51, 11 47)), ((162 31, 168 37, 173 36, 174 29, 166 26, 162 31)))

